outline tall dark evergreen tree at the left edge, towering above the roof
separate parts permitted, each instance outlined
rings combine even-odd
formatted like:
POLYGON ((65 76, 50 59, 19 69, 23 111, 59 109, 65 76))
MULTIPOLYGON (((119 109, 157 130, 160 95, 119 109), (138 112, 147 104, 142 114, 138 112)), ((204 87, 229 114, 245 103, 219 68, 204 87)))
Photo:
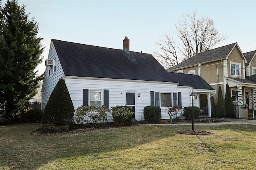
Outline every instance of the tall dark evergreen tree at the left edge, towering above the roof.
POLYGON ((39 81, 36 66, 42 62, 42 38, 37 38, 38 23, 29 20, 25 6, 16 0, 7 0, 0 8, 0 108, 6 119, 24 107, 24 103, 38 93, 39 81))

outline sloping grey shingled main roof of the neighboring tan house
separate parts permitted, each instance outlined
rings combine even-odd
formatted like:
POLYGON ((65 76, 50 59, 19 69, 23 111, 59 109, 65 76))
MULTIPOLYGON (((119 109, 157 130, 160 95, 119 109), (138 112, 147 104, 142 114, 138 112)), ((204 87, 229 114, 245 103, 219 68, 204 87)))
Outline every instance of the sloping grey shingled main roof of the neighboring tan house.
POLYGON ((181 63, 178 63, 177 65, 175 65, 167 70, 172 71, 172 70, 176 70, 179 68, 198 65, 200 63, 206 63, 209 61, 225 59, 228 56, 228 54, 230 53, 230 51, 234 48, 234 45, 236 45, 236 43, 232 43, 230 45, 225 45, 223 47, 218 47, 215 49, 210 49, 208 51, 204 51, 202 53, 194 55, 193 57, 191 57, 189 59, 182 61, 181 63))

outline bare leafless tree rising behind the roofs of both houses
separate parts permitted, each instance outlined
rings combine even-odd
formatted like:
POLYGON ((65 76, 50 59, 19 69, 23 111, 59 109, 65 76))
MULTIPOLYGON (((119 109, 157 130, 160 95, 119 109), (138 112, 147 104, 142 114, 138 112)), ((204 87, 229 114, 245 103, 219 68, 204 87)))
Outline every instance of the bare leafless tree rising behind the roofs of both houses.
POLYGON ((175 24, 175 28, 178 43, 170 32, 165 33, 162 40, 156 43, 159 50, 153 51, 156 59, 166 68, 207 51, 228 38, 216 30, 212 19, 206 16, 197 19, 196 12, 183 15, 182 20, 175 24))

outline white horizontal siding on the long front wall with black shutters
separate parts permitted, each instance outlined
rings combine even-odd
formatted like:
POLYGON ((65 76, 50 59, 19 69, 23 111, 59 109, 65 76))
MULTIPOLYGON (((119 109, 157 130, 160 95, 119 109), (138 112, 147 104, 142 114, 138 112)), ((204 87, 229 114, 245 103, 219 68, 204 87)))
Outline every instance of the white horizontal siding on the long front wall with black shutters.
MULTIPOLYGON (((81 106, 83 103, 83 89, 89 90, 109 90, 109 107, 116 105, 124 106, 125 92, 135 92, 136 115, 135 119, 140 121, 144 120, 143 109, 150 105, 150 91, 160 93, 182 93, 182 107, 190 106, 190 88, 177 87, 171 83, 154 83, 142 81, 124 81, 118 79, 83 79, 65 77, 65 82, 73 101, 74 109, 81 106), (141 94, 140 98, 138 93, 141 94)), ((162 109, 162 119, 170 119, 166 112, 166 108, 162 109)), ((175 117, 174 117, 175 118, 175 117)))

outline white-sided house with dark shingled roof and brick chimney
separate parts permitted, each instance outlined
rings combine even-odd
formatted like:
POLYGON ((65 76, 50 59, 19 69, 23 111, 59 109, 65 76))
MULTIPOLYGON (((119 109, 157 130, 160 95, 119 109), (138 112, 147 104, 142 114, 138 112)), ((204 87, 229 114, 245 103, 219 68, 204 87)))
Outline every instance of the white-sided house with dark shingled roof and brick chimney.
MULTIPOLYGON (((191 106, 192 91, 209 97, 215 93, 202 77, 169 73, 151 54, 130 51, 129 39, 125 38, 123 45, 123 49, 111 49, 52 40, 42 87, 42 111, 60 78, 66 82, 74 109, 90 104, 108 108, 128 105, 138 121, 144 120, 143 109, 148 105, 159 105, 162 119, 170 119, 166 107, 191 106)), ((194 105, 199 106, 198 100, 194 105)))

